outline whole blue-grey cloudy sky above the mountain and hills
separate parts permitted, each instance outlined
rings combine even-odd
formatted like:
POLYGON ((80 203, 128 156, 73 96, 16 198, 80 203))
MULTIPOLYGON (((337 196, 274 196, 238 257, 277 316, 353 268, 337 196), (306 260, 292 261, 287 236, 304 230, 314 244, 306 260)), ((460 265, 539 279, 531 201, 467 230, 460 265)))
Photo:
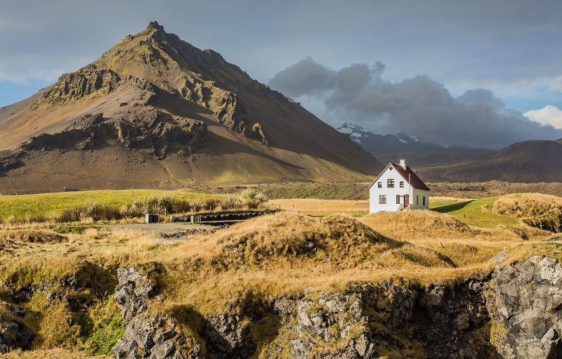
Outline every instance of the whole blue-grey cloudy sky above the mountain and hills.
POLYGON ((0 107, 156 20, 323 121, 473 148, 562 138, 559 0, 0 0, 0 107))

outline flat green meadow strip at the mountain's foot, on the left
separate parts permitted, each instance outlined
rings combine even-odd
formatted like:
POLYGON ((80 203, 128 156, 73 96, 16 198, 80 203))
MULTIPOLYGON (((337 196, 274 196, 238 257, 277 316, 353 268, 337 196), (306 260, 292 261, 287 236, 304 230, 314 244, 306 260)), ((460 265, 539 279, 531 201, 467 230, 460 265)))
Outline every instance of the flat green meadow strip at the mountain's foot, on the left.
POLYGON ((83 206, 87 202, 96 202, 111 207, 131 204, 133 200, 152 194, 175 194, 178 199, 205 200, 216 195, 203 195, 190 192, 173 192, 166 190, 89 190, 79 192, 41 193, 37 195, 18 195, 0 197, 0 220, 13 215, 16 219, 43 214, 60 214, 65 208, 83 206))

